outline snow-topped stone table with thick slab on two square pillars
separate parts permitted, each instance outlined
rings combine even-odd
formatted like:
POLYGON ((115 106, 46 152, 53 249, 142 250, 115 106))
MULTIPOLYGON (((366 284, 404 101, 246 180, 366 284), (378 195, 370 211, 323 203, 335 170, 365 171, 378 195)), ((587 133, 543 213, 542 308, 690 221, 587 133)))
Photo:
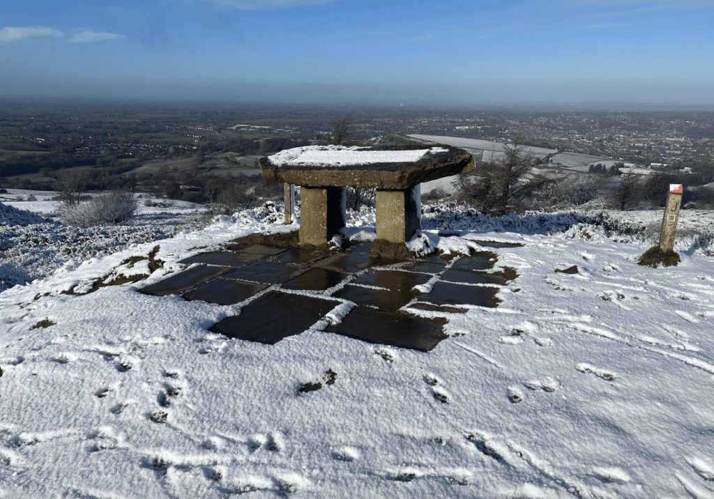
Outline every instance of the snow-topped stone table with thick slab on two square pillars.
POLYGON ((345 188, 377 190, 377 241, 383 256, 405 258, 421 228, 419 184, 473 171, 473 157, 451 146, 310 146, 261 158, 268 181, 302 186, 301 246, 325 246, 345 226, 345 188))

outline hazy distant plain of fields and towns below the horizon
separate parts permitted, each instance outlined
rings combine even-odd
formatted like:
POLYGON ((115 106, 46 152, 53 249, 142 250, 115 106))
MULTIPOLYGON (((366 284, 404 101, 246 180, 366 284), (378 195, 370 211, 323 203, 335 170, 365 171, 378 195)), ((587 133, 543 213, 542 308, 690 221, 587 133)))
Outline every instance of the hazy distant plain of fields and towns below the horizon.
MULTIPOLYGON (((233 166, 252 167, 255 173, 260 156, 326 143, 329 131, 345 116, 351 116, 353 135, 361 139, 401 133, 501 143, 518 140, 559 152, 544 155, 552 166, 561 160, 563 166, 578 164, 566 161, 566 151, 593 156, 582 159, 584 166, 609 158, 643 170, 714 174, 714 113, 707 111, 3 101, 0 187, 41 187, 43 178, 66 168, 92 168, 108 177, 180 159, 193 158, 196 167, 221 154, 233 166)), ((169 171, 176 168, 172 163, 166 166, 169 171)))

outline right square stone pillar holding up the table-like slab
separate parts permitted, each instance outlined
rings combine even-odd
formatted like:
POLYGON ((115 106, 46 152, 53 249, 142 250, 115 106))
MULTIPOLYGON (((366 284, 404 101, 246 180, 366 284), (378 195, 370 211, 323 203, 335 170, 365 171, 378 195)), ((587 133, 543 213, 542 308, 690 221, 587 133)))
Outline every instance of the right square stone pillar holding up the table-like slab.
POLYGON ((421 228, 415 188, 377 189, 377 240, 406 243, 421 228))

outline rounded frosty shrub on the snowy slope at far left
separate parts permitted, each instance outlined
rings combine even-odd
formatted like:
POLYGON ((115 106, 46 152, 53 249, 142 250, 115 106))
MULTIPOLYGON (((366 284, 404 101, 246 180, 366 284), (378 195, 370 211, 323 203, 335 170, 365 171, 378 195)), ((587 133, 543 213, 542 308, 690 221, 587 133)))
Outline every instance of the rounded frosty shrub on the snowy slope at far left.
POLYGON ((59 208, 59 217, 68 225, 91 227, 127 221, 136 208, 136 200, 130 193, 112 192, 74 206, 64 204, 59 208))

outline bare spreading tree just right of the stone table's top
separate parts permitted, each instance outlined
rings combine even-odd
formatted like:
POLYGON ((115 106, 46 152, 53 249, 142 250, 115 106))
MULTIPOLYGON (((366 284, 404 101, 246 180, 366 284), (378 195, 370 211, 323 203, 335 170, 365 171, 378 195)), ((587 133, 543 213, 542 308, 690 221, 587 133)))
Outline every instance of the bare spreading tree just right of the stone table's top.
POLYGON ((471 175, 459 176, 458 199, 491 215, 523 211, 526 201, 553 178, 533 172, 535 158, 520 142, 516 138, 501 156, 480 163, 471 175))

